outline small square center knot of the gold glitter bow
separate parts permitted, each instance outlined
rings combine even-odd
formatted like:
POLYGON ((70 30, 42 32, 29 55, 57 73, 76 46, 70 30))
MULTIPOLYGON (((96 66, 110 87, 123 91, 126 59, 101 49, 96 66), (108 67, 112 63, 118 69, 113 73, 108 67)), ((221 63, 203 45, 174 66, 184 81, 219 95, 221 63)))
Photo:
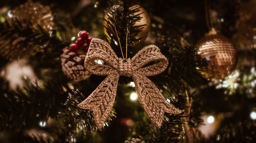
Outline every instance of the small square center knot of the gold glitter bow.
POLYGON ((118 59, 118 72, 123 76, 132 76, 132 64, 131 59, 118 59))

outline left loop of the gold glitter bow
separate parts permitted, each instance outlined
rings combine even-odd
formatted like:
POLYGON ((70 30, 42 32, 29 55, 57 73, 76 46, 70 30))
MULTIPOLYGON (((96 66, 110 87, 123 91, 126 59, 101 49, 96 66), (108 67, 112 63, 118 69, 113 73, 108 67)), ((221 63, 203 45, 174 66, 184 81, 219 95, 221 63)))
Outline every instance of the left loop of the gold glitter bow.
POLYGON ((118 69, 118 58, 110 45, 101 39, 92 39, 84 66, 95 75, 109 75, 118 69), (105 65, 95 63, 102 60, 105 65))

